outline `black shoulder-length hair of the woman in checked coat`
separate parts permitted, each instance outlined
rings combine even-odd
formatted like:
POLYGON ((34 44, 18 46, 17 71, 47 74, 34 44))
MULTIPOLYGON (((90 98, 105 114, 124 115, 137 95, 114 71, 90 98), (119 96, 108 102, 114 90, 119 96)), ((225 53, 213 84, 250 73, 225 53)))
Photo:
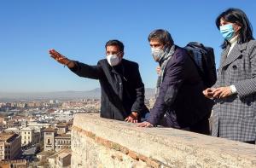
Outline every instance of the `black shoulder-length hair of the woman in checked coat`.
MULTIPOLYGON (((225 10, 222 14, 219 14, 217 19, 215 20, 215 24, 218 29, 220 26, 221 19, 231 23, 236 23, 237 25, 241 26, 241 29, 239 30, 237 43, 246 43, 254 39, 253 27, 247 18, 247 14, 245 14, 241 9, 231 8, 225 10)), ((229 42, 227 40, 224 40, 224 43, 222 43, 221 48, 226 48, 228 44, 229 42)))

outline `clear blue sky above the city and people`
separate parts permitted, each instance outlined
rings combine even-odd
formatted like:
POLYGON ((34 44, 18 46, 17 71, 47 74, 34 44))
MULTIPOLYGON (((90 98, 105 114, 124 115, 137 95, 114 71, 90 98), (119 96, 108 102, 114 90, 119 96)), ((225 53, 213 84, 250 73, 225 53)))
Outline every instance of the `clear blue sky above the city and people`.
POLYGON ((147 38, 159 28, 178 46, 211 46, 218 66, 223 38, 215 19, 228 8, 242 9, 256 28, 256 1, 250 0, 0 0, 0 92, 98 88, 97 80, 79 78, 48 50, 96 65, 109 39, 125 44, 125 59, 136 61, 145 87, 154 88, 157 63, 147 38))

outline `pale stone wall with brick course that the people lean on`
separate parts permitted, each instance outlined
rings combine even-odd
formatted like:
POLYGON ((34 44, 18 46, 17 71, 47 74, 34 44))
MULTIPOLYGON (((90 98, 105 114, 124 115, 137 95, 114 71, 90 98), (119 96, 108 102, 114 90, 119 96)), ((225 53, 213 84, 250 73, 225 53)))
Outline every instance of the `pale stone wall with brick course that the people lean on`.
POLYGON ((256 167, 255 145, 77 114, 72 167, 256 167))

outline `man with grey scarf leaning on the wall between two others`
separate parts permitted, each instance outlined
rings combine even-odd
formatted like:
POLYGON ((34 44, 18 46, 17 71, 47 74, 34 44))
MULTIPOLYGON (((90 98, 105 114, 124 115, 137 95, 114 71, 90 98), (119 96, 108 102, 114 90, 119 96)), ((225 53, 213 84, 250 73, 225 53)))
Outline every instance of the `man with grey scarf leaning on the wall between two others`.
POLYGON ((160 64, 160 76, 150 117, 138 126, 163 125, 209 134, 212 103, 202 94, 204 84, 195 63, 165 30, 151 32, 148 42, 154 61, 160 64))

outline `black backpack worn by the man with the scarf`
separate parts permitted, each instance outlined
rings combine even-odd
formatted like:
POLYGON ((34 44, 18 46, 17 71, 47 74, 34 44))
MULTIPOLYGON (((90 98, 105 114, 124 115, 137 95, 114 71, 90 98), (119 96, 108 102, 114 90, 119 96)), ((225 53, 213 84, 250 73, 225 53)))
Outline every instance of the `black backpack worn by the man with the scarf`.
POLYGON ((206 47, 202 43, 190 42, 184 49, 187 50, 195 67, 205 84, 206 88, 212 87, 217 80, 214 51, 211 47, 206 47))

